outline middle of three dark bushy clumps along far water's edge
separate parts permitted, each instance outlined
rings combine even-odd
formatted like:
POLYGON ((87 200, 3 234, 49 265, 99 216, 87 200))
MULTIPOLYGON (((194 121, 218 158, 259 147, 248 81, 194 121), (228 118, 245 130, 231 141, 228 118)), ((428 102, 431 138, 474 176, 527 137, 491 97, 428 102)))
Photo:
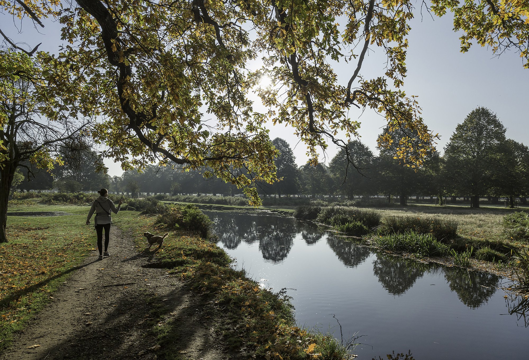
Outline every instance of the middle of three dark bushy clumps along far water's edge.
POLYGON ((333 226, 343 225, 348 222, 359 221, 369 229, 375 228, 380 224, 381 215, 373 210, 361 210, 333 206, 322 208, 318 215, 318 221, 331 224, 333 226))

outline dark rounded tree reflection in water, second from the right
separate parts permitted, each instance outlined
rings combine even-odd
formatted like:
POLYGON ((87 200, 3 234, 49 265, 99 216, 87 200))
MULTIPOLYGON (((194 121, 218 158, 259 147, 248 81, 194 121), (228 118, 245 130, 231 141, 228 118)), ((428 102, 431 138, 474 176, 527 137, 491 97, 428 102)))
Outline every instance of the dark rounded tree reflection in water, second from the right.
POLYGON ((382 256, 373 261, 373 273, 391 295, 402 295, 418 278, 423 277, 428 265, 396 256, 382 256))

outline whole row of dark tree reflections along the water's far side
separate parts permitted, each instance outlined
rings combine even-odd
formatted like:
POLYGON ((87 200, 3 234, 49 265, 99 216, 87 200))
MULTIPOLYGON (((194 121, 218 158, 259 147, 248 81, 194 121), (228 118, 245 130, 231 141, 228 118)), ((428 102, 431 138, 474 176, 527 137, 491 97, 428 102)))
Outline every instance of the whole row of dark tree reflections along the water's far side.
MULTIPOLYGON (((327 245, 346 267, 357 267, 371 255, 369 248, 343 240, 332 233, 326 233, 309 222, 276 215, 248 215, 233 212, 213 212, 209 215, 214 223, 215 232, 226 249, 236 249, 243 241, 249 245, 258 242, 262 258, 273 263, 282 262, 287 258, 298 234, 308 246, 326 238, 327 245)), ((419 263, 384 254, 377 254, 377 258, 373 260, 373 274, 391 295, 403 295, 426 272, 444 273, 450 290, 472 309, 479 308, 494 295, 497 290, 495 286, 499 281, 498 276, 494 274, 419 263)), ((526 303, 513 308, 521 309, 526 303)))

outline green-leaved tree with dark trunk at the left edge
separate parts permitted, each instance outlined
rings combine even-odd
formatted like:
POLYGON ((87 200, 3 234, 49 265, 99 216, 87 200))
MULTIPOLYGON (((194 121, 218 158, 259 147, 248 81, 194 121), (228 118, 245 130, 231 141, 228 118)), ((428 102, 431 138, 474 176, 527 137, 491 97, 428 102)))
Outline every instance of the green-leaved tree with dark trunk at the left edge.
POLYGON ((61 146, 79 137, 86 123, 77 120, 75 99, 63 94, 76 87, 68 85, 68 68, 56 67, 40 53, 29 57, 0 49, 0 58, 0 242, 6 242, 7 203, 17 167, 31 174, 34 167, 62 164, 61 146))

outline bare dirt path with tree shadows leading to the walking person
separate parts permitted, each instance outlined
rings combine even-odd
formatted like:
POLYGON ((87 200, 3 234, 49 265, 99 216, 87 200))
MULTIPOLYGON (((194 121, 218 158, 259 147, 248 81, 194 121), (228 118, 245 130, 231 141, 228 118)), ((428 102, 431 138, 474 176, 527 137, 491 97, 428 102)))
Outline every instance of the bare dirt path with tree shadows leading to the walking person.
POLYGON ((0 359, 156 359, 153 325, 171 329, 175 358, 230 358, 212 325, 213 305, 166 269, 142 267, 153 251, 137 253, 132 239, 112 227, 108 252, 103 260, 97 251, 85 259, 0 359))

